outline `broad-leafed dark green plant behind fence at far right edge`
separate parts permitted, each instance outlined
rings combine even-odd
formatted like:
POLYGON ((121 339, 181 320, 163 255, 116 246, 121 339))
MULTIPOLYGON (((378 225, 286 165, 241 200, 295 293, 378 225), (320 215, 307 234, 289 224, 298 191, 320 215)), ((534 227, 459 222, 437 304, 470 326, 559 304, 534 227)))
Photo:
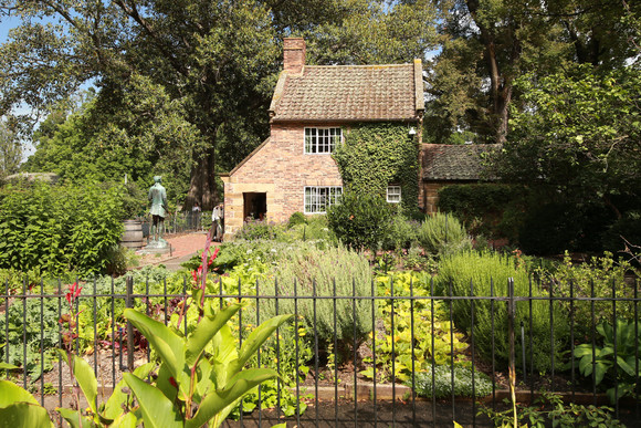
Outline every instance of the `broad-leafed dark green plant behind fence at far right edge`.
POLYGON ((584 376, 593 376, 595 385, 601 385, 606 377, 617 384, 607 390, 610 401, 614 404, 619 398, 634 394, 637 379, 641 375, 641 359, 638 358, 641 355, 641 331, 638 322, 617 320, 616 333, 614 327, 605 322, 597 325, 597 332, 602 337, 602 346, 578 345, 574 356, 579 358, 579 372, 584 376))

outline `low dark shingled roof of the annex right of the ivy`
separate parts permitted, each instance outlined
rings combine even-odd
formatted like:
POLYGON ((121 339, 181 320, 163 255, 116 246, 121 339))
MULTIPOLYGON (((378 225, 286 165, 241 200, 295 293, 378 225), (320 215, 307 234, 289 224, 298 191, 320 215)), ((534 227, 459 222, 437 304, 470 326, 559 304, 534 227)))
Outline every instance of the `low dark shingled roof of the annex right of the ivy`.
POLYGON ((423 180, 479 180, 483 170, 481 155, 498 147, 496 144, 423 144, 423 180))

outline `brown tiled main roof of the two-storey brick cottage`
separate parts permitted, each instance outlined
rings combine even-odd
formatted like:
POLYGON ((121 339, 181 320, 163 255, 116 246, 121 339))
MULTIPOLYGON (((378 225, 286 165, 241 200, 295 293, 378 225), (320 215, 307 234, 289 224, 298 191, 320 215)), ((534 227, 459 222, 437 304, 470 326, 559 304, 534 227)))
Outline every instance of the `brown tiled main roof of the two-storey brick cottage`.
POLYGON ((416 121, 424 108, 421 60, 392 65, 305 65, 284 71, 272 122, 416 121))

